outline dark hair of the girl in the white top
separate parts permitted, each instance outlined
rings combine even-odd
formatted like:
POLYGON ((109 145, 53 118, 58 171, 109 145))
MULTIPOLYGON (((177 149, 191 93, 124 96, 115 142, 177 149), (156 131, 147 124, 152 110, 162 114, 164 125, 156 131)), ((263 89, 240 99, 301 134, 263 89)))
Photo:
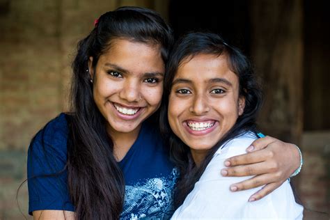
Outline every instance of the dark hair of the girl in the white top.
POLYGON ((258 86, 253 68, 246 56, 239 49, 228 45, 223 39, 214 33, 188 33, 183 36, 173 47, 173 52, 166 66, 164 79, 164 97, 160 116, 162 134, 168 140, 171 151, 171 159, 178 166, 180 178, 175 191, 175 205, 180 206, 184 198, 194 188, 194 183, 201 178, 207 164, 209 164, 214 152, 226 141, 233 139, 244 132, 256 132, 256 116, 261 107, 262 94, 258 86), (239 96, 245 98, 245 108, 242 116, 237 118, 235 125, 219 142, 213 146, 200 166, 196 166, 191 157, 189 146, 185 145, 178 136, 171 131, 167 120, 168 96, 171 93, 172 81, 178 68, 187 58, 191 59, 197 54, 224 55, 227 58, 231 71, 239 78, 239 96))

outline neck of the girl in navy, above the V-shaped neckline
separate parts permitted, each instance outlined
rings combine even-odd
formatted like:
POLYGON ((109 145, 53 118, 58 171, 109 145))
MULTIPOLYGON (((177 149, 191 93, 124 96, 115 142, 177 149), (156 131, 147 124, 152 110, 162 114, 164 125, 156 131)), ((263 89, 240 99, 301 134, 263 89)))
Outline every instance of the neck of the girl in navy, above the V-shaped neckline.
POLYGON ((108 134, 113 141, 113 155, 117 162, 120 162, 132 147, 139 136, 140 129, 141 125, 136 127, 132 132, 118 132, 113 130, 110 126, 107 128, 108 134))

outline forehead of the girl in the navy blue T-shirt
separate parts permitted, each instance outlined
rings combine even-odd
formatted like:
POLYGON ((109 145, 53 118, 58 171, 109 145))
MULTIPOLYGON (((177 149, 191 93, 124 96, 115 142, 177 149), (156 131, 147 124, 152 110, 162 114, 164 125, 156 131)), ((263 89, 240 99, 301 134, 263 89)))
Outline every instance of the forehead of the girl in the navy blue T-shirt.
POLYGON ((159 45, 125 38, 111 40, 109 48, 98 62, 101 65, 112 63, 132 72, 164 72, 159 45))

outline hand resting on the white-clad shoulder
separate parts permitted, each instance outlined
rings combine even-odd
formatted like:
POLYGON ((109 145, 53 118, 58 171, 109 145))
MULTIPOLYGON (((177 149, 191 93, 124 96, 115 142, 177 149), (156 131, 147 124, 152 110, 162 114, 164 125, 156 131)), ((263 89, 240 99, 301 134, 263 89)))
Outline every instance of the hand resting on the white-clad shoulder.
POLYGON ((223 176, 247 176, 253 178, 243 182, 237 182, 230 186, 231 191, 241 191, 262 187, 260 191, 253 194, 249 201, 257 201, 267 196, 281 186, 285 180, 301 164, 300 152, 297 146, 285 143, 271 136, 265 136, 253 141, 246 149, 247 153, 226 159, 225 166, 221 170, 223 176))

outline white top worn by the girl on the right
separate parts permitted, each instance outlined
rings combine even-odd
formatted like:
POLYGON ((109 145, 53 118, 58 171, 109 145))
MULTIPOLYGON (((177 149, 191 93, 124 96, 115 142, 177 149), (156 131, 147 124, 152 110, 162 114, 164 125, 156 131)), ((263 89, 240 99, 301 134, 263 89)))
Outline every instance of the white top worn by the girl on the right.
POLYGON ((254 202, 248 202, 250 196, 262 187, 237 192, 229 190, 230 184, 251 176, 223 177, 220 173, 221 168, 225 168, 223 162, 244 154, 255 139, 254 134, 246 133, 221 146, 172 219, 302 219, 304 208, 295 203, 288 181, 254 202))

